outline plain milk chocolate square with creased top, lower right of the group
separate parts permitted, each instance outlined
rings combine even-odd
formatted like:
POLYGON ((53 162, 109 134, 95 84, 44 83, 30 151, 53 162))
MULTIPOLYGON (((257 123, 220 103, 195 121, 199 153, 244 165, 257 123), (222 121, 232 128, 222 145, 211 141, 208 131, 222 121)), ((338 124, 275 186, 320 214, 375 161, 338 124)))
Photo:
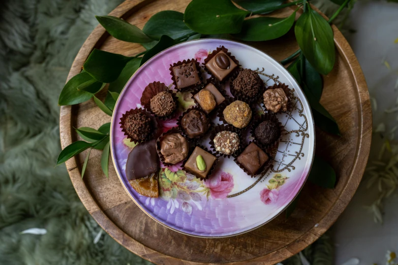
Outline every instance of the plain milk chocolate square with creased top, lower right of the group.
POLYGON ((255 143, 251 143, 243 150, 236 160, 251 175, 254 175, 268 159, 268 155, 261 150, 260 147, 255 143))

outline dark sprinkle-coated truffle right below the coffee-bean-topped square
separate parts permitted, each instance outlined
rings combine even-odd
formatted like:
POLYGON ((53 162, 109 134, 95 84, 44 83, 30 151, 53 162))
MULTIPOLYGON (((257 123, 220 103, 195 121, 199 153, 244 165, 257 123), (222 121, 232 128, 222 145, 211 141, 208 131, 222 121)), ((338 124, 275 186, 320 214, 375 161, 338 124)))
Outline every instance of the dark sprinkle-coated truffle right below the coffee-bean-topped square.
POLYGON ((263 85, 260 76, 250 69, 243 69, 233 80, 234 89, 249 97, 257 96, 263 85))

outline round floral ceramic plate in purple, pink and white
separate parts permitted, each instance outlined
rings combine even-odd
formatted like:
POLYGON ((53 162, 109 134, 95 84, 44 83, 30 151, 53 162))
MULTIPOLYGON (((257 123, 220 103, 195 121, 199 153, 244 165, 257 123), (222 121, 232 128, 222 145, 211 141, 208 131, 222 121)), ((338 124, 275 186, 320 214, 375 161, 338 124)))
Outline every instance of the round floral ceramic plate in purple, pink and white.
MULTIPOLYGON (((202 70, 203 80, 209 75, 202 70)), ((174 86, 172 86, 174 88, 174 86)), ((229 92, 229 84, 226 84, 229 92)), ((179 113, 194 106, 189 92, 177 93, 179 113)), ((213 111, 217 112, 217 111, 213 111)), ((256 115, 261 112, 260 107, 256 115)), ((160 121, 162 131, 177 126, 176 118, 160 121)), ((212 120, 220 123, 216 113, 212 120)), ((112 116, 111 153, 113 163, 126 191, 133 201, 159 223, 197 237, 228 237, 255 229, 284 211, 300 191, 311 169, 314 157, 315 131, 311 109, 302 90, 290 73, 264 52, 246 44, 203 39, 173 46, 145 62, 121 92, 112 116), (154 81, 171 85, 170 64, 196 58, 202 62, 207 54, 225 46, 239 60, 242 68, 257 71, 266 86, 285 83, 294 90, 292 111, 278 114, 287 134, 279 143, 275 159, 265 172, 251 178, 233 161, 221 157, 209 180, 201 181, 181 170, 181 164, 161 165, 160 195, 149 198, 138 194, 129 184, 125 168, 134 143, 120 128, 120 117, 134 108, 141 108, 144 88, 154 81)), ((250 136, 246 137, 249 142, 250 136)), ((202 144, 209 147, 208 135, 202 144)))

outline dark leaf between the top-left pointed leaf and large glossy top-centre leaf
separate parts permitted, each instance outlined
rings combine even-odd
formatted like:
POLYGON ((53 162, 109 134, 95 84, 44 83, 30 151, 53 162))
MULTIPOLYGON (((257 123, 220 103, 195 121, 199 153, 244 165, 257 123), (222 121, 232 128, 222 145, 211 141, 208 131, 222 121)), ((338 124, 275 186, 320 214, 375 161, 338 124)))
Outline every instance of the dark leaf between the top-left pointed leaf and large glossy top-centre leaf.
POLYGON ((170 10, 161 11, 151 16, 142 31, 156 40, 159 40, 162 35, 177 39, 194 32, 184 23, 184 14, 170 10))

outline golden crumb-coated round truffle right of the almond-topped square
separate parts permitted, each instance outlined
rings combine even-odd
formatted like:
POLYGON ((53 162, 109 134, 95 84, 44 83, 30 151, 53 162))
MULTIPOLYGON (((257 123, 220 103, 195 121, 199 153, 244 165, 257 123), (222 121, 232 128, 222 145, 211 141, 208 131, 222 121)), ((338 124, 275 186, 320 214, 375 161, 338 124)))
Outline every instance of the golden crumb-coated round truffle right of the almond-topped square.
POLYGON ((223 115, 226 122, 241 129, 249 125, 252 110, 247 103, 234 101, 225 108, 223 115))

